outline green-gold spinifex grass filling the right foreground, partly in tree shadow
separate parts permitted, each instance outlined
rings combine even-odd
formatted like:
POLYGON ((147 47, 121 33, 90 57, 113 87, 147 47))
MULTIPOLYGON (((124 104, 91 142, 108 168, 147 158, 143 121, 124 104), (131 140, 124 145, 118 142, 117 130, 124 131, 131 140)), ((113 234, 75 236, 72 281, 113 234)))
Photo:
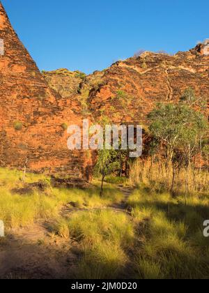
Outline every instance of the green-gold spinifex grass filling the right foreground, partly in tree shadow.
POLYGON ((209 195, 172 198, 141 187, 129 199, 139 225, 136 278, 208 278, 209 242, 203 236, 203 219, 209 195))

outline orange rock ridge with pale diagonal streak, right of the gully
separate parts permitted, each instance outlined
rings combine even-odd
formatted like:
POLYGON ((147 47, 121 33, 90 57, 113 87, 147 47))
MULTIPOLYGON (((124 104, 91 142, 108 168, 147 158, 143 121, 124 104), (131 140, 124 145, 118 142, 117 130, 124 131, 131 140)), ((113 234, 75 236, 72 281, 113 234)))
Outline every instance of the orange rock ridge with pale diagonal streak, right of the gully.
POLYGON ((106 70, 100 87, 91 89, 91 111, 96 119, 107 116, 116 123, 144 124, 157 102, 176 102, 188 87, 207 100, 209 56, 203 52, 206 46, 175 56, 145 52, 118 61, 106 70))

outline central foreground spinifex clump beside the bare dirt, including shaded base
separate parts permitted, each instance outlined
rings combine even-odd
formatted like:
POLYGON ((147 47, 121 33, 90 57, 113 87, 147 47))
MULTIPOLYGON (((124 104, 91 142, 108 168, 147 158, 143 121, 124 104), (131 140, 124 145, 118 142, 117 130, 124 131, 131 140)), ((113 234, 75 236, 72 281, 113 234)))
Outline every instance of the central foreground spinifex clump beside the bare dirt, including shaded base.
POLYGON ((116 278, 134 245, 134 227, 124 213, 78 212, 60 220, 56 232, 79 242, 81 257, 77 278, 116 278))

